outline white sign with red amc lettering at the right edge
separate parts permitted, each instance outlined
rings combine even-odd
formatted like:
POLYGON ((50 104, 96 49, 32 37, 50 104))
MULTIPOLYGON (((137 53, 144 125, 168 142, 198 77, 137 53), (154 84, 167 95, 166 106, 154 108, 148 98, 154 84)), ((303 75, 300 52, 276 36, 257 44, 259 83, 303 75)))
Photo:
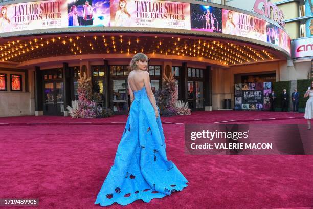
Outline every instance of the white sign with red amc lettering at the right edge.
POLYGON ((292 58, 313 57, 313 37, 292 41, 292 58))

